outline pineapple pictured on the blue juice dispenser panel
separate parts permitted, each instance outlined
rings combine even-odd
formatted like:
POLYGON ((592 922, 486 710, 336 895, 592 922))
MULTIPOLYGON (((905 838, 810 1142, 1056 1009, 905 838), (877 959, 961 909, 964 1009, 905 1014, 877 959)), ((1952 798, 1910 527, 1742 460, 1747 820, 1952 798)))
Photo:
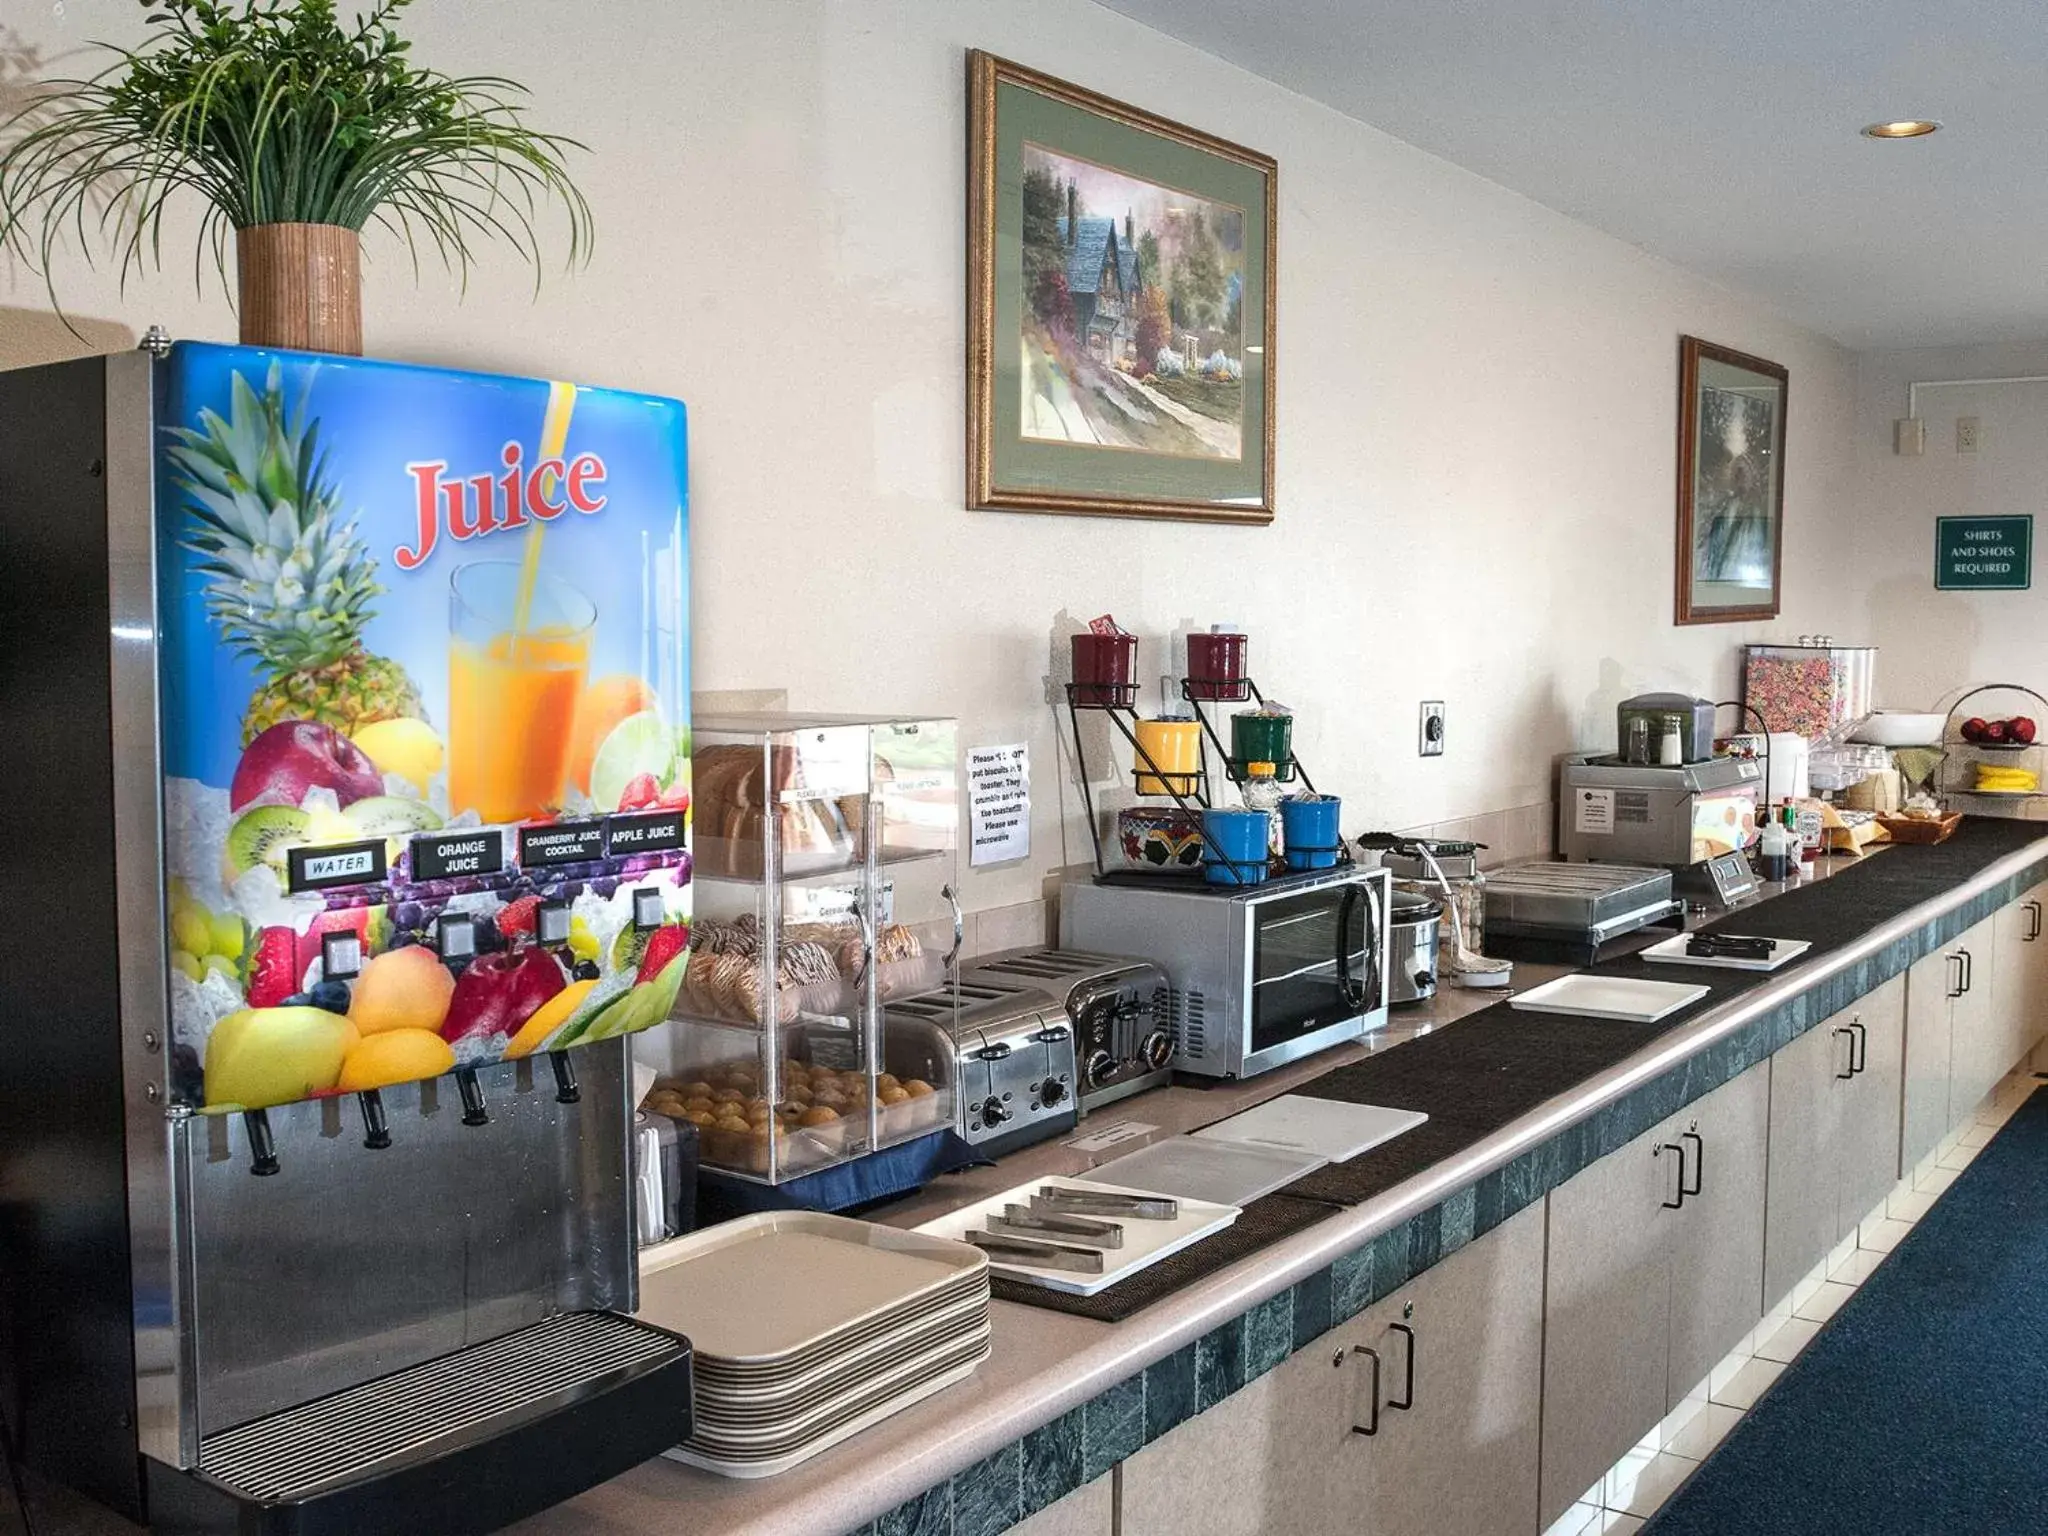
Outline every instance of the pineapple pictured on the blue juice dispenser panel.
MULTIPOLYGON (((281 365, 270 365, 262 395, 238 373, 227 420, 201 412, 199 422, 201 430, 174 432, 168 459, 186 496, 182 543, 207 578, 207 612, 264 674, 242 739, 254 743, 285 721, 346 737, 418 717, 420 690, 406 668, 362 649, 371 602, 383 592, 377 561, 356 524, 342 520, 319 424, 303 406, 285 408, 281 365)), ((236 807, 244 803, 238 795, 236 807)))

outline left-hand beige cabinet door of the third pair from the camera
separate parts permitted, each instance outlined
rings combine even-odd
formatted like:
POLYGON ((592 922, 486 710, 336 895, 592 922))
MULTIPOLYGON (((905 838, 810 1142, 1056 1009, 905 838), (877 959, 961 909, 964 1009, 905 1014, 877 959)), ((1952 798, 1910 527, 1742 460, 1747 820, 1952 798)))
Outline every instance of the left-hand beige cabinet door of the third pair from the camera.
MULTIPOLYGON (((1839 1241, 1835 1137, 1849 1071, 1847 1016, 1823 1020, 1769 1059, 1772 1114, 1763 1196, 1763 1303, 1790 1294, 1839 1241)), ((1896 1075, 1894 1075, 1896 1079, 1896 1075)), ((1896 1126, 1896 1118, 1894 1118, 1896 1126)), ((1896 1137, 1896 1128, 1892 1133, 1896 1137)), ((1896 1159, 1896 1147, 1892 1157, 1896 1159)))

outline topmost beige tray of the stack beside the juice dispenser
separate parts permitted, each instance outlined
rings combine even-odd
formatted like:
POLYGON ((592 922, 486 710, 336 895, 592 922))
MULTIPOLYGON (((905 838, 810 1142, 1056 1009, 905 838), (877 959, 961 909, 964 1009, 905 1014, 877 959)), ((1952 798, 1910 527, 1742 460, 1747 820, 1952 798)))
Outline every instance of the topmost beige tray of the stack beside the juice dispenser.
POLYGON ((764 1210, 641 1253, 639 1317, 698 1356, 772 1364, 948 1292, 987 1266, 948 1243, 815 1210, 764 1210))

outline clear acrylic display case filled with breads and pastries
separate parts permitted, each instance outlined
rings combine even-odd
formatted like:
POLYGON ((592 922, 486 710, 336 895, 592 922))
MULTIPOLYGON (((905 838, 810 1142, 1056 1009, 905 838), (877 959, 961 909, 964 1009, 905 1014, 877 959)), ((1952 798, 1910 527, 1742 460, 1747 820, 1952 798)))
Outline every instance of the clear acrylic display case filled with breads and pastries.
POLYGON ((690 965, 637 1042, 645 1108, 766 1184, 952 1126, 950 1038, 883 1004, 954 987, 956 723, 700 715, 692 737, 690 965))

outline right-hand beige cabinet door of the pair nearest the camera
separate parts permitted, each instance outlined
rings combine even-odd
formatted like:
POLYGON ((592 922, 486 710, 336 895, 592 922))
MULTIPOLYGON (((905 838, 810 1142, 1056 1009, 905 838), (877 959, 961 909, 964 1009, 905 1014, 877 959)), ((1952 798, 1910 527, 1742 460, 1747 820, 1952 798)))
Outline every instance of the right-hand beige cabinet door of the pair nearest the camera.
POLYGON ((1364 1341, 1399 1403, 1370 1448, 1372 1536, 1534 1536, 1542 1413, 1544 1212, 1528 1206, 1374 1309, 1364 1341), (1393 1323, 1413 1329, 1413 1343, 1393 1323), (1413 1354, 1411 1354, 1413 1350, 1413 1354))

